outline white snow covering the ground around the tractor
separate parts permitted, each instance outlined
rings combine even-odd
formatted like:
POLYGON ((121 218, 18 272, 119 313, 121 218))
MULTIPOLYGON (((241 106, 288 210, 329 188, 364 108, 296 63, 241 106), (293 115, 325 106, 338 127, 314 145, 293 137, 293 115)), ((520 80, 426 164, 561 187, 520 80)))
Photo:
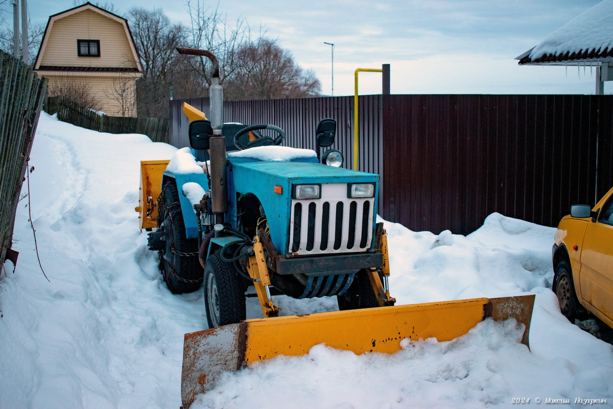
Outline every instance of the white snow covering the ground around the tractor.
MULTIPOLYGON (((42 113, 15 223, 19 261, 0 277, 0 408, 179 407, 183 334, 205 328, 203 297, 170 294, 134 212, 139 161, 175 151, 42 113)), ((613 407, 613 347, 568 323, 549 289, 555 229, 497 213, 466 237, 386 229, 398 304, 536 294, 531 351, 514 325, 492 321, 393 355, 318 345, 228 373, 192 407, 480 408, 514 398, 613 407)), ((334 299, 275 301, 286 315, 336 309, 334 299)), ((261 316, 254 299, 248 315, 261 316)))

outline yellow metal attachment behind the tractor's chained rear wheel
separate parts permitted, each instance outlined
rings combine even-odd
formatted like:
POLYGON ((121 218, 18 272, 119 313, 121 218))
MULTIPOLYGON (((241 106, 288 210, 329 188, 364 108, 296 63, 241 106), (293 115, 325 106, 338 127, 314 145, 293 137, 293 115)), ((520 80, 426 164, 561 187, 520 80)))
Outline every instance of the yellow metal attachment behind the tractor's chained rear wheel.
POLYGON ((170 161, 140 161, 139 212, 140 229, 158 227, 158 196, 162 189, 162 173, 170 161))

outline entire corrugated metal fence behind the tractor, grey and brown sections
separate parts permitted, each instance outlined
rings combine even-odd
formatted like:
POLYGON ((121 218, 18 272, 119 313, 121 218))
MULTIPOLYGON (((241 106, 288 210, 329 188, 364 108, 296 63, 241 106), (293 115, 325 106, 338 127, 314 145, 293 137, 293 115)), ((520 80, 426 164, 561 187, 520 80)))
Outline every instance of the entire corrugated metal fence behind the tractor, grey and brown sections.
MULTIPOLYGON (((183 101, 170 143, 188 145, 183 101)), ((185 100, 208 112, 208 100, 185 100)), ((350 167, 352 97, 224 102, 225 120, 272 123, 313 148, 318 120, 338 121, 350 167)), ((359 169, 382 176, 379 214, 414 231, 468 234, 499 212, 556 226, 571 204, 613 185, 613 98, 572 95, 360 96, 359 169)))

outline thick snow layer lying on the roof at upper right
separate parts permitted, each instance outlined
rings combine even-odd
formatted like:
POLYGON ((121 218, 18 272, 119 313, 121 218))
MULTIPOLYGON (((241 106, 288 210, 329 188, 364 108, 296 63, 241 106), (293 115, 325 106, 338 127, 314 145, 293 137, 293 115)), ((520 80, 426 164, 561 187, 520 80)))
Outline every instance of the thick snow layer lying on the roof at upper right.
POLYGON ((532 50, 530 58, 611 49, 612 45, 613 0, 604 0, 552 32, 532 50))

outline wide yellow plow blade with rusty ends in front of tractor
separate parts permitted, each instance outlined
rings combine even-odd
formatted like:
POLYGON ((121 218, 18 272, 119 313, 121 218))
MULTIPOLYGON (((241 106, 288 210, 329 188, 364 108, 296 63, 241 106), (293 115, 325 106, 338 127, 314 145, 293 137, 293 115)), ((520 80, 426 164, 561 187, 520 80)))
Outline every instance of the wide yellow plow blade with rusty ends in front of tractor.
POLYGON ((224 371, 278 355, 307 354, 320 343, 356 354, 394 353, 403 338, 460 337, 485 318, 515 318, 524 324, 528 345, 535 296, 478 298, 363 310, 247 319, 185 334, 181 399, 188 408, 194 397, 210 391, 224 371))

